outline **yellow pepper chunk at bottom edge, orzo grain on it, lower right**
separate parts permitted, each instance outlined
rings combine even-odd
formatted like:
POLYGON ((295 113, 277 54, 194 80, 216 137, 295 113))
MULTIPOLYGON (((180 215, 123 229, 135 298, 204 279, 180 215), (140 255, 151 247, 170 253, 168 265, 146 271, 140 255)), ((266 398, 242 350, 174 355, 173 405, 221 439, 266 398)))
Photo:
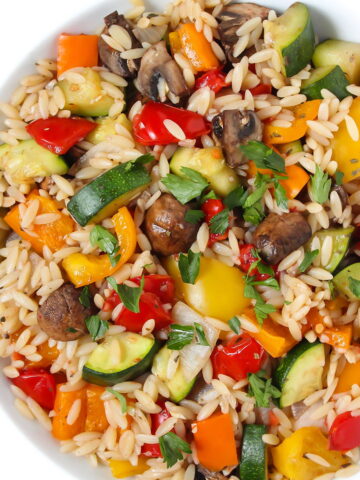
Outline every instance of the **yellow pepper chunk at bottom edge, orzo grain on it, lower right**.
POLYGON ((319 475, 336 472, 348 461, 339 452, 328 450, 328 439, 318 427, 304 427, 271 449, 275 468, 289 480, 313 480, 319 475), (324 458, 329 467, 304 457, 315 453, 324 458))

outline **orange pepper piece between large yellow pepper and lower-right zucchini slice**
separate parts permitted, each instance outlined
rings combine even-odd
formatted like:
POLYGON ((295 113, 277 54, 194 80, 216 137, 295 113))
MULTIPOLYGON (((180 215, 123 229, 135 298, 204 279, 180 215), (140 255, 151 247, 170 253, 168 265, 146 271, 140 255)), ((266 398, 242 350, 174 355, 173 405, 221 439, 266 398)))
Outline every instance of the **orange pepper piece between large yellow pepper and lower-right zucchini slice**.
POLYGON ((258 332, 248 332, 249 335, 255 338, 272 357, 282 357, 296 345, 297 342, 289 330, 274 322, 270 317, 267 317, 260 325, 253 310, 247 309, 243 315, 259 329, 258 332))

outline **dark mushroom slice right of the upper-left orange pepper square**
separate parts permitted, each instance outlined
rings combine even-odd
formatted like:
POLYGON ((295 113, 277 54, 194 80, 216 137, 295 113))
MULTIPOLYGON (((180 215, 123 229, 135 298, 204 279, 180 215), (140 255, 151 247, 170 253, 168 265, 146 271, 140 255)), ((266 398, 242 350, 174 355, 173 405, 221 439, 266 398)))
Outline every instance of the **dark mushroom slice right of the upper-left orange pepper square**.
MULTIPOLYGON (((131 48, 141 48, 141 43, 133 34, 132 25, 126 20, 124 15, 119 15, 116 11, 110 13, 104 18, 105 29, 103 33, 108 34, 112 25, 123 27, 131 38, 131 48)), ((113 73, 121 75, 124 78, 134 78, 139 70, 140 59, 121 58, 121 52, 110 47, 105 40, 99 37, 99 56, 102 63, 113 73)))

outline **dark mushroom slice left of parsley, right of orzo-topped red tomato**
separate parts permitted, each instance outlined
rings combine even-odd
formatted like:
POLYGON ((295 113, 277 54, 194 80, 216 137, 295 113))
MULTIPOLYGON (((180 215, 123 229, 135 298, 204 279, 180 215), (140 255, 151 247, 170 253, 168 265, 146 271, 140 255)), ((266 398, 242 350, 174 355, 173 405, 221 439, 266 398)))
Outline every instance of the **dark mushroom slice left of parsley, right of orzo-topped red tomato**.
POLYGON ((232 168, 247 161, 240 145, 250 140, 262 140, 263 125, 252 110, 224 110, 213 118, 212 124, 224 149, 226 163, 232 168))

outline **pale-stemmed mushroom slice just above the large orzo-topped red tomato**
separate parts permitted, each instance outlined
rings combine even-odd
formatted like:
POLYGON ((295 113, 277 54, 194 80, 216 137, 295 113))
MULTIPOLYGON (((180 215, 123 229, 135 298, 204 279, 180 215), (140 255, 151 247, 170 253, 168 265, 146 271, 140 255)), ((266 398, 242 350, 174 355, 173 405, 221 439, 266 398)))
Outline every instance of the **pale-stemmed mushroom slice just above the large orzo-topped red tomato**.
POLYGON ((166 81, 170 92, 177 97, 189 94, 184 76, 166 50, 164 41, 156 43, 145 52, 141 59, 137 86, 143 95, 158 100, 160 78, 166 81))

